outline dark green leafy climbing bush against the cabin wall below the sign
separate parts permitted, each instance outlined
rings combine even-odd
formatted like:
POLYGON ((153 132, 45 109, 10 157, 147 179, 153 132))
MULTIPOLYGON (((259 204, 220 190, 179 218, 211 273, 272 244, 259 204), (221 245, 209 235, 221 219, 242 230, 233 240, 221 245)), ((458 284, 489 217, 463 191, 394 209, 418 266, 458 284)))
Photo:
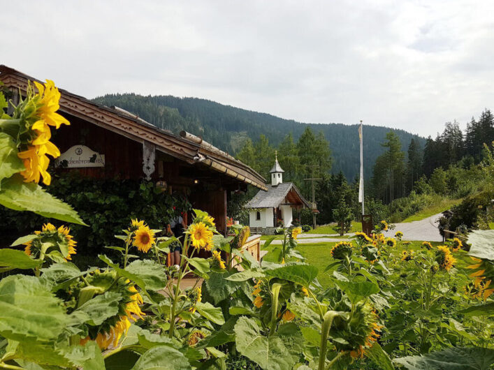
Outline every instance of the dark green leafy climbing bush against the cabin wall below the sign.
MULTIPOLYGON (((79 253, 96 256, 103 246, 112 245, 114 235, 126 228, 129 218, 150 220, 150 227, 165 228, 175 215, 190 206, 180 195, 161 192, 152 182, 117 179, 87 179, 78 172, 52 179, 50 193, 78 210, 81 218, 90 225, 71 225, 71 232, 85 246, 79 253)), ((52 219, 28 212, 15 212, 1 207, 0 234, 2 242, 13 241, 52 219), (15 232, 13 232, 15 230, 15 232)), ((56 224, 56 223, 55 223, 56 224)))

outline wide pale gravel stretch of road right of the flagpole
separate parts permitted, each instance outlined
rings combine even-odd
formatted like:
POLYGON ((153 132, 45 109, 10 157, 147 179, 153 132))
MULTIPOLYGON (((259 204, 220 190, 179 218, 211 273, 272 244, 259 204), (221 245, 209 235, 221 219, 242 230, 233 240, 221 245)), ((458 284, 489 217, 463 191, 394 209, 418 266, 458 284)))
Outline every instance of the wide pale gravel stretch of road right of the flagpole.
POLYGON ((395 228, 384 232, 386 237, 394 237, 400 230, 404 240, 428 240, 429 242, 442 242, 437 223, 442 214, 435 214, 427 219, 407 223, 395 223, 395 228))

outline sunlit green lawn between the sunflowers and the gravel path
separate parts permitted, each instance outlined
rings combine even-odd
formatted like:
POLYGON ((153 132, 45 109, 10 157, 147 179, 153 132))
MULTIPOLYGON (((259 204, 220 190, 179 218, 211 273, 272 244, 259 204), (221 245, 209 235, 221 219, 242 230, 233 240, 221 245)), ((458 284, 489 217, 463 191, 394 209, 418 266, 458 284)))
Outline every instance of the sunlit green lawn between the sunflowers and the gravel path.
MULTIPOLYGON (((418 249, 421 249, 421 244, 422 242, 415 241, 412 242, 408 246, 408 249, 412 249, 413 251, 416 251, 418 249)), ((441 245, 442 243, 439 242, 432 242, 433 246, 441 245)), ((335 245, 335 242, 333 243, 317 243, 317 244, 298 244, 297 250, 300 251, 300 254, 306 258, 305 262, 307 262, 310 265, 313 265, 317 267, 319 270, 319 274, 317 275, 317 279, 319 280, 319 283, 321 283, 322 286, 328 287, 331 284, 330 280, 330 274, 333 274, 333 269, 331 269, 328 272, 324 272, 326 269, 326 266, 330 265, 330 263, 334 262, 333 257, 331 256, 331 249, 335 245)), ((395 253, 396 255, 400 256, 401 252, 405 246, 402 244, 399 244, 396 249, 395 253)), ((467 256, 467 253, 465 252, 459 252, 455 253, 455 258, 457 260, 457 267, 465 267, 467 265, 470 265, 470 258, 467 256)), ((405 262, 403 262, 405 263, 405 262)))

